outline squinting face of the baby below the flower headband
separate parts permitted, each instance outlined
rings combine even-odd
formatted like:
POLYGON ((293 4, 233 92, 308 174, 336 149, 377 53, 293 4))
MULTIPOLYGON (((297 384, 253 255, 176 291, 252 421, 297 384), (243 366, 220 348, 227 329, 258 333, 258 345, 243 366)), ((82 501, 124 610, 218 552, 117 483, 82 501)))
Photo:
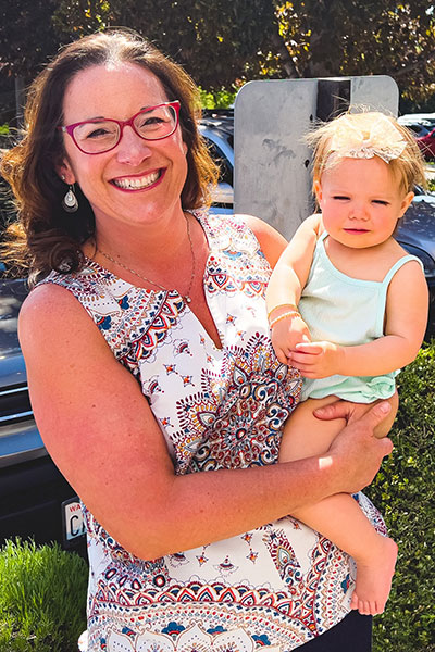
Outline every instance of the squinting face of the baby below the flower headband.
POLYGON ((343 159, 323 172, 314 187, 325 229, 356 249, 388 240, 413 198, 377 156, 343 159))

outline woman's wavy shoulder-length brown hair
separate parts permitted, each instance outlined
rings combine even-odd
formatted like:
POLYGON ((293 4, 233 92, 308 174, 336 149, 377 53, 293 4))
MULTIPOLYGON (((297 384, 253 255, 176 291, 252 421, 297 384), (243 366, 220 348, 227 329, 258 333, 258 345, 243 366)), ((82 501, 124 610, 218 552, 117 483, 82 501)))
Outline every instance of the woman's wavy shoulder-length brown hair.
POLYGON ((124 29, 98 33, 70 43, 32 84, 24 137, 3 154, 0 165, 15 196, 18 214, 7 230, 3 260, 14 267, 29 268, 33 280, 51 269, 78 271, 83 265, 80 244, 94 235, 94 213, 77 186, 77 212, 71 214, 62 208, 67 186, 55 172, 65 155, 58 126, 63 124, 63 98, 73 77, 89 66, 108 62, 141 65, 159 78, 169 101, 179 100, 188 164, 181 196, 183 209, 207 205, 210 188, 216 183, 217 168, 197 128, 201 115, 199 91, 179 65, 140 36, 124 29))

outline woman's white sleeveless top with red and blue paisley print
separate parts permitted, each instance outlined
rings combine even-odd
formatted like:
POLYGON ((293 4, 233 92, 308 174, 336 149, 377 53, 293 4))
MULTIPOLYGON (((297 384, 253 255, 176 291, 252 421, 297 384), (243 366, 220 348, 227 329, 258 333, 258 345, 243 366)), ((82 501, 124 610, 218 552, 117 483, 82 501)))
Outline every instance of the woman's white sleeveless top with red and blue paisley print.
MULTIPOLYGON (((274 464, 300 379, 269 338, 271 269, 241 221, 195 215, 209 241, 203 284, 222 349, 176 291, 137 288, 91 260, 46 283, 74 293, 138 379, 177 474, 274 464)), ((358 499, 382 530, 368 499, 358 499)), ((88 652, 288 652, 348 613, 353 564, 290 516, 144 561, 84 511, 88 652)))

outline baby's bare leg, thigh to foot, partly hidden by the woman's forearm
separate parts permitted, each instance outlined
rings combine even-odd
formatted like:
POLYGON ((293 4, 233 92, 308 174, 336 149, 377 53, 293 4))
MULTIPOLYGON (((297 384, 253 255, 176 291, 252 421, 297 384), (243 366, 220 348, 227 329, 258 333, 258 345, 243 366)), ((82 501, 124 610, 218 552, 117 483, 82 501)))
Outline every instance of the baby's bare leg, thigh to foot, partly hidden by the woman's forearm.
MULTIPOLYGON (((318 455, 328 450, 345 427, 345 419, 321 422, 313 416, 313 411, 335 400, 335 397, 309 399, 298 405, 284 428, 279 462, 318 455)), ((362 614, 382 613, 390 590, 397 557, 396 543, 378 535, 357 501, 346 493, 306 505, 293 515, 327 537, 357 562, 357 584, 351 607, 362 614)))

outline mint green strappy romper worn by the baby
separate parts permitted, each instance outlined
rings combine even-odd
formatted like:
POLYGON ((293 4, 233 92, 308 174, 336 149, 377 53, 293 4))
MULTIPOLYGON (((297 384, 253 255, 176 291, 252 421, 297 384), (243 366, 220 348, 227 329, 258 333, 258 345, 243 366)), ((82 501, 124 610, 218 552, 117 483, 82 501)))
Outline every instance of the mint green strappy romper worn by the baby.
MULTIPOLYGON (((344 347, 365 344, 384 335, 385 304, 389 281, 408 261, 403 255, 393 265, 384 280, 362 280, 339 272, 330 261, 324 231, 315 246, 313 262, 299 311, 310 328, 312 341, 330 341, 344 347)), ((423 267, 423 265, 422 265, 423 267)), ((395 371, 383 376, 340 376, 304 378, 301 400, 336 396, 356 403, 388 399, 395 392, 395 371)))

